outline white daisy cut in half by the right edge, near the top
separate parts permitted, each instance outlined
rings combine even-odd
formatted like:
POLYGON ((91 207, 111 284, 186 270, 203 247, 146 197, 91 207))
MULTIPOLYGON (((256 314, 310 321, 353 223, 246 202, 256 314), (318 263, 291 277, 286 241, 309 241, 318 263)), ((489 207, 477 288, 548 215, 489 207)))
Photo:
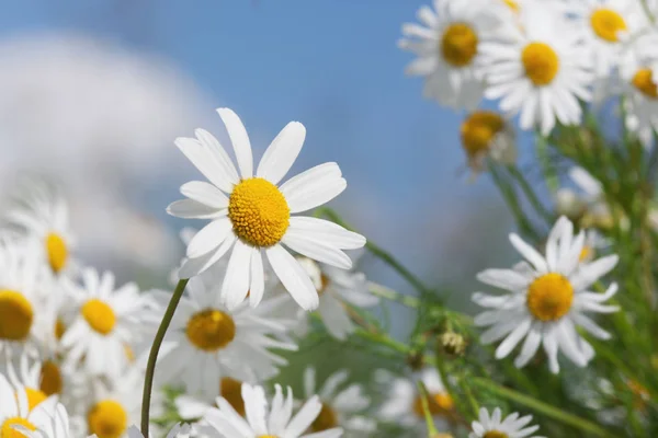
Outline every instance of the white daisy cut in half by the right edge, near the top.
POLYGON ((620 76, 626 127, 649 148, 658 129, 658 32, 633 41, 620 59, 620 76))

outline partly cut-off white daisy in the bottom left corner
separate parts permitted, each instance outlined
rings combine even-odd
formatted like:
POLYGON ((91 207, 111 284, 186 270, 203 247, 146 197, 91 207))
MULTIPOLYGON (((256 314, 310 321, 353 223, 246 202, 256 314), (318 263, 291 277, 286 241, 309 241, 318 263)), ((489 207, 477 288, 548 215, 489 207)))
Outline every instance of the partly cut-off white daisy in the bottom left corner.
POLYGON ((14 427, 30 430, 46 429, 57 404, 56 397, 43 401, 31 408, 27 393, 23 388, 13 388, 4 376, 0 374, 0 434, 2 438, 22 438, 23 434, 14 427))

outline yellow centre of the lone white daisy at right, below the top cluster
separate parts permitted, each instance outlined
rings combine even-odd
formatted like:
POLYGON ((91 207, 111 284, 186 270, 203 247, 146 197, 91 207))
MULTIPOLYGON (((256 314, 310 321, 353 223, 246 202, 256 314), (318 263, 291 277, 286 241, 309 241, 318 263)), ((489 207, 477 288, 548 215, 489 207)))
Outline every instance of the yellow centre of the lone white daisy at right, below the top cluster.
POLYGON ((574 287, 556 273, 537 277, 527 288, 527 309, 540 321, 557 321, 569 312, 574 287))

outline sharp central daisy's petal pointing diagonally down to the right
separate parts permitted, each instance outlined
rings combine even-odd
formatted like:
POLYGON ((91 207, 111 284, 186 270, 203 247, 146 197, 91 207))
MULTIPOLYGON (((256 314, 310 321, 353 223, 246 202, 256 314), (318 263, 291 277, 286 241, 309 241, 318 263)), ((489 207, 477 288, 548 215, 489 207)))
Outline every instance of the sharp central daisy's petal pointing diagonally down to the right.
POLYGON ((293 299, 305 310, 315 310, 318 307, 318 292, 304 268, 281 245, 265 250, 272 269, 291 293, 293 299))

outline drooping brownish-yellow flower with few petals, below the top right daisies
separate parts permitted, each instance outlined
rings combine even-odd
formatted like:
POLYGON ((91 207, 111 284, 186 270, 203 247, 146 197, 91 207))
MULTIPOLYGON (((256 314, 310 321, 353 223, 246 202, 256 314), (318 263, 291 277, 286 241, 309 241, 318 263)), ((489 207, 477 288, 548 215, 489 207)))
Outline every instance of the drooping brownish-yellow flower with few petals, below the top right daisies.
POLYGON ((470 113, 462 122, 460 135, 474 174, 485 169, 487 157, 504 164, 517 161, 514 129, 496 112, 479 110, 470 113))

